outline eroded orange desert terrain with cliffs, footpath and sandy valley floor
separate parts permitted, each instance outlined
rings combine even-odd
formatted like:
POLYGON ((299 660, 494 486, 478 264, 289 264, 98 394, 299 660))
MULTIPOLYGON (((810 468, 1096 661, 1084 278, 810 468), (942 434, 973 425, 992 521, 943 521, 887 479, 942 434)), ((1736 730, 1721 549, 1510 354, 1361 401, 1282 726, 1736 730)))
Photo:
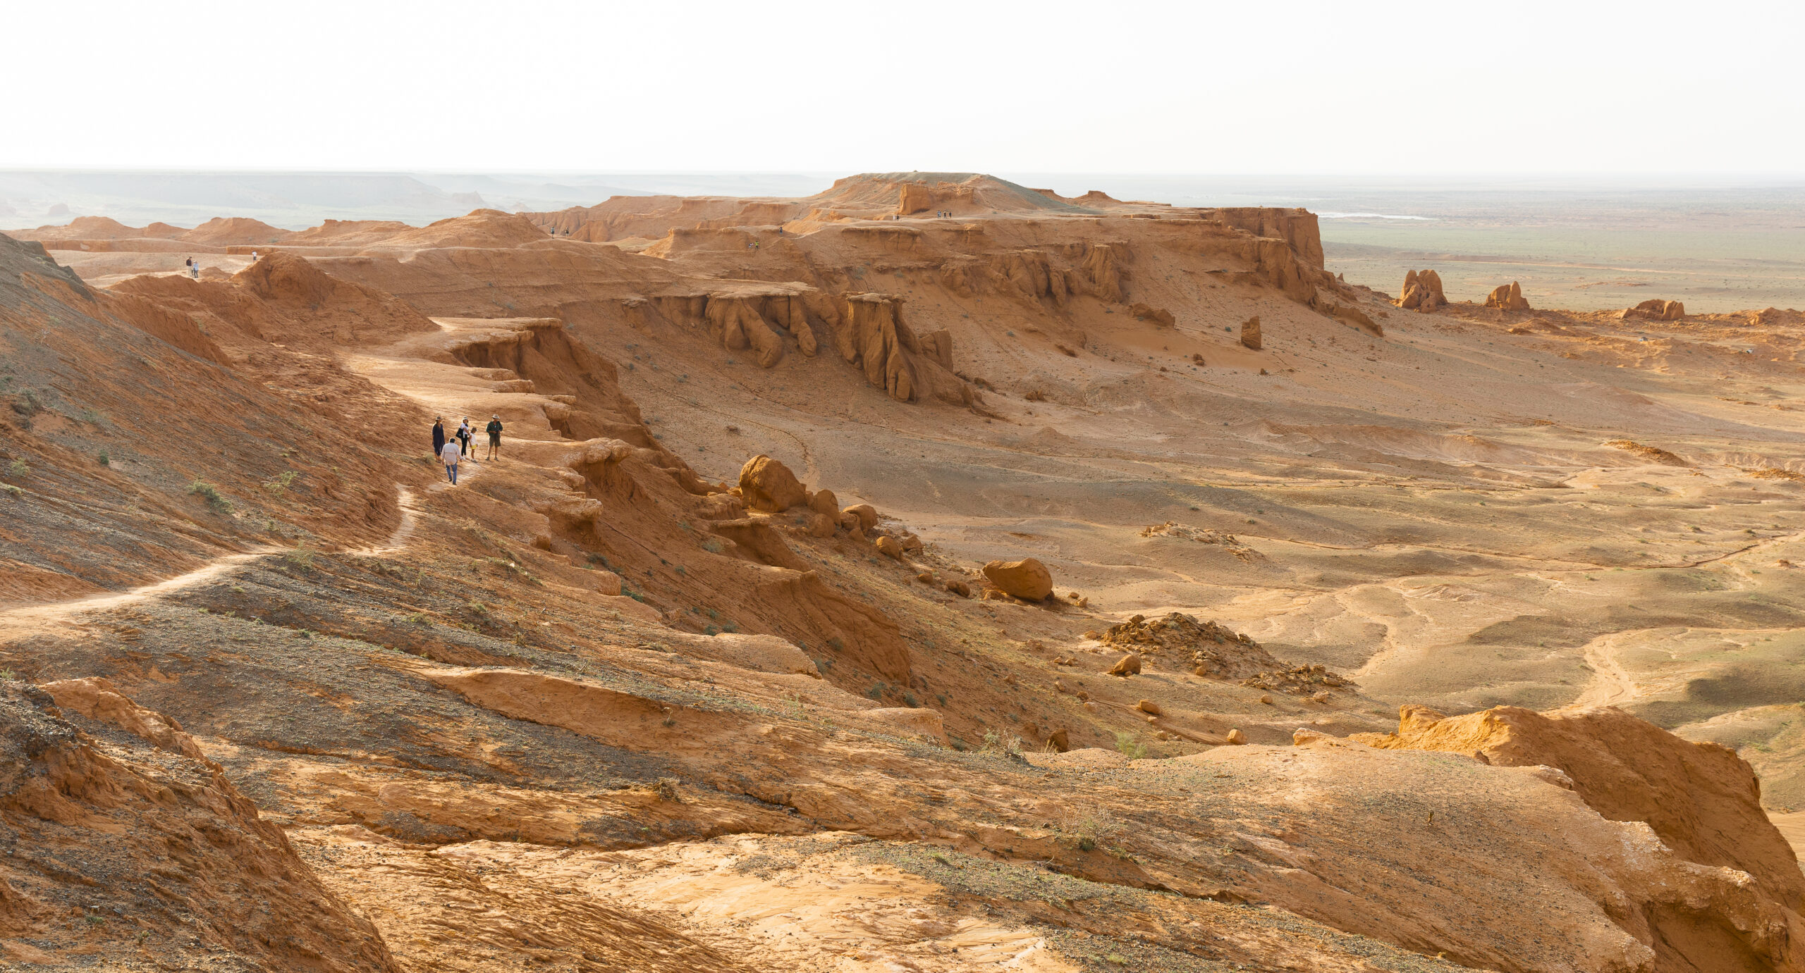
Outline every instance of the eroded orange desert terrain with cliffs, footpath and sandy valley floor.
POLYGON ((1805 318, 1455 296, 975 173, 0 236, 5 962, 1805 969, 1805 318))

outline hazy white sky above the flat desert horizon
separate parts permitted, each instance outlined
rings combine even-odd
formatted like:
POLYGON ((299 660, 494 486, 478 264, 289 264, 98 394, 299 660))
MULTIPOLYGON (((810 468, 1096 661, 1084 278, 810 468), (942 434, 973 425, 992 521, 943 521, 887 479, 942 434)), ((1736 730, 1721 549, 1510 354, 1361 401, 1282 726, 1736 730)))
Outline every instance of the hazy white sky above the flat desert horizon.
POLYGON ((0 166, 1805 171, 1805 2, 7 4, 0 166))

